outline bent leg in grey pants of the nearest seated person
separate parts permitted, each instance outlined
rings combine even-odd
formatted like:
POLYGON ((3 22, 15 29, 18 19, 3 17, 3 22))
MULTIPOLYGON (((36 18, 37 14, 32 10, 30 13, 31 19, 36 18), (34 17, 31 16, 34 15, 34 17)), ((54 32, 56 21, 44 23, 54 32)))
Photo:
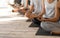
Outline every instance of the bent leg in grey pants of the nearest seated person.
POLYGON ((53 22, 41 22, 41 27, 46 31, 52 31, 60 29, 60 24, 53 22))

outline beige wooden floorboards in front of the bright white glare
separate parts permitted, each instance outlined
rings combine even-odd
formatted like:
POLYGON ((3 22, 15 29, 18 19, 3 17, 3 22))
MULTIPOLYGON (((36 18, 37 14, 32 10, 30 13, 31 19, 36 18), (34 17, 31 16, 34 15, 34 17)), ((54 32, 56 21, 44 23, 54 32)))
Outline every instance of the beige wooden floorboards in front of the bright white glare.
POLYGON ((0 21, 0 38, 60 38, 59 36, 35 35, 38 27, 29 27, 26 20, 0 21))

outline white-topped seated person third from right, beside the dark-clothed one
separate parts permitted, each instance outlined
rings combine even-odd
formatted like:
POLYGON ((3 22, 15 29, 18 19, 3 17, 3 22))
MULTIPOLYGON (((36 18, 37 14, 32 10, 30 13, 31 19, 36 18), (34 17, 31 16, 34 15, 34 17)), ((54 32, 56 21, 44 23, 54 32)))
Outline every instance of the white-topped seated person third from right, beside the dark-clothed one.
POLYGON ((25 14, 25 12, 29 9, 28 7, 28 0, 21 0, 21 5, 17 6, 13 11, 14 12, 21 12, 22 14, 25 14))

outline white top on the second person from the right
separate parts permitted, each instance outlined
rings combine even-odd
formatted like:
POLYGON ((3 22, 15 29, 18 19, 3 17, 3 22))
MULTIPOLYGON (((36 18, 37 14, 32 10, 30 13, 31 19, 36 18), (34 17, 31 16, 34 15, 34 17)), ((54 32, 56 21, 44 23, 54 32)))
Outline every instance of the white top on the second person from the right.
POLYGON ((42 0, 30 0, 30 5, 34 5, 33 13, 36 13, 36 14, 40 13, 40 11, 42 10, 41 2, 42 0))

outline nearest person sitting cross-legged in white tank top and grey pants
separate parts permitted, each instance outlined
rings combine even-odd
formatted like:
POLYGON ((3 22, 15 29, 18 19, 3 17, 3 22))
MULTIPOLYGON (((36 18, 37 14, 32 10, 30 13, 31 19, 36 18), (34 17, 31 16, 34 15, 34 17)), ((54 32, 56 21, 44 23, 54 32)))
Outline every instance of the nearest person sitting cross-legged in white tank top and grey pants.
POLYGON ((45 12, 39 18, 41 27, 52 34, 60 34, 60 2, 57 0, 44 0, 45 12))

